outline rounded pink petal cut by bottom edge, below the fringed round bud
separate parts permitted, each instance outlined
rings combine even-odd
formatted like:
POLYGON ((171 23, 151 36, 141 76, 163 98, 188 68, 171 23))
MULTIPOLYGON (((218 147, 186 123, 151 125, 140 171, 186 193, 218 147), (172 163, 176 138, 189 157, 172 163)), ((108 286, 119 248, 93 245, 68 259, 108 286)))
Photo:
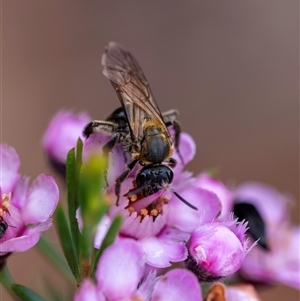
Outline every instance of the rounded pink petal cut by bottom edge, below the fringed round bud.
POLYGON ((174 269, 156 283, 152 301, 202 301, 200 285, 194 274, 174 269))

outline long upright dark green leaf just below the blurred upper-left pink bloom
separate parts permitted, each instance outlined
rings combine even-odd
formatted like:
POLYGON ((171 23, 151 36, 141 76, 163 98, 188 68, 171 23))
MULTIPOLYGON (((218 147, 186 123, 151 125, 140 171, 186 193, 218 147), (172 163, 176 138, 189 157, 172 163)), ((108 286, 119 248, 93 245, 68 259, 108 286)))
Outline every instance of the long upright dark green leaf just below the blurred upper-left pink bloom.
POLYGON ((75 150, 71 149, 67 155, 66 161, 66 183, 68 190, 68 213, 69 213, 69 222, 70 230, 76 248, 76 254, 79 252, 79 229, 78 223, 76 220, 76 210, 79 207, 78 204, 78 178, 77 178, 77 166, 75 161, 75 150))

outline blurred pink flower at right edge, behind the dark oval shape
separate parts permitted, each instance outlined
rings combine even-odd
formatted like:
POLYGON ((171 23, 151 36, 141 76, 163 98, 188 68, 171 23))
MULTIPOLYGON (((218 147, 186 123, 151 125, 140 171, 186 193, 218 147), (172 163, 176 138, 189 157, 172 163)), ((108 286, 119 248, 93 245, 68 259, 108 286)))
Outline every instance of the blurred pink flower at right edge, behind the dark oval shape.
POLYGON ((263 219, 268 245, 268 249, 260 245, 253 248, 242 265, 242 276, 256 282, 281 282, 300 290, 300 227, 290 224, 289 197, 255 182, 240 185, 234 196, 237 203, 255 206, 263 219))

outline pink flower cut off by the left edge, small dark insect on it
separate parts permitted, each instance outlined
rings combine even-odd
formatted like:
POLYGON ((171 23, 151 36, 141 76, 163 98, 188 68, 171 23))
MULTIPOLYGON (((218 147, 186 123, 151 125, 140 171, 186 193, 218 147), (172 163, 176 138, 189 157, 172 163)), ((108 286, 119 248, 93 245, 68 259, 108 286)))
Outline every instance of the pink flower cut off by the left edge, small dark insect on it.
POLYGON ((29 178, 18 173, 16 151, 0 144, 0 255, 26 251, 34 246, 41 231, 51 226, 59 191, 54 179, 41 174, 29 186, 29 178))

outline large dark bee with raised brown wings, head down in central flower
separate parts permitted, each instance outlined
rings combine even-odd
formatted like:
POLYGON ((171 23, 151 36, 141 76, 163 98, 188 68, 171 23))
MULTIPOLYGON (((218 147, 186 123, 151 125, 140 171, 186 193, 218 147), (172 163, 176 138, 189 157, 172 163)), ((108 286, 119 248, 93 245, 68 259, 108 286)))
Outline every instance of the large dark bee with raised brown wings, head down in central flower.
MULTIPOLYGON (((122 107, 116 109, 106 121, 95 120, 89 123, 84 129, 84 135, 88 137, 91 133, 106 132, 112 137, 103 146, 104 154, 120 143, 128 156, 126 170, 116 179, 118 205, 121 184, 137 163, 143 167, 138 171, 136 187, 127 193, 128 197, 138 193, 142 193, 143 197, 149 196, 173 181, 171 168, 177 163, 172 158, 174 147, 182 160, 178 150, 180 126, 176 121, 176 110, 161 113, 142 69, 123 46, 110 42, 102 56, 102 66, 103 74, 111 81, 122 107), (175 131, 174 140, 167 128, 171 125, 175 131)), ((189 207, 197 210, 174 190, 171 191, 189 207)))

